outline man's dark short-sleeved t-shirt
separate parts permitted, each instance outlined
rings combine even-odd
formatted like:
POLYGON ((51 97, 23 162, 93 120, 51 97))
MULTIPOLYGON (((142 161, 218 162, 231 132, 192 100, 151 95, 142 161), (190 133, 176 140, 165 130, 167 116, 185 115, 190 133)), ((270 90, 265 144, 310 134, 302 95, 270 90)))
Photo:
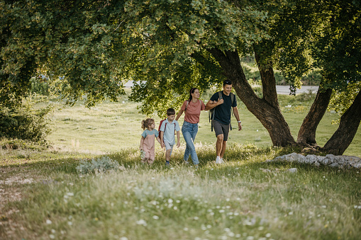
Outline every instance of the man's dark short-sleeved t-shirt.
MULTIPOLYGON (((214 93, 213 96, 211 96, 211 101, 218 101, 219 94, 218 92, 214 93)), ((223 98, 223 104, 216 106, 214 108, 214 120, 221 122, 222 124, 230 124, 231 123, 231 107, 234 108, 237 106, 237 101, 235 100, 235 96, 233 99, 233 105, 232 105, 232 99, 231 94, 226 96, 222 91, 222 98, 223 98)))

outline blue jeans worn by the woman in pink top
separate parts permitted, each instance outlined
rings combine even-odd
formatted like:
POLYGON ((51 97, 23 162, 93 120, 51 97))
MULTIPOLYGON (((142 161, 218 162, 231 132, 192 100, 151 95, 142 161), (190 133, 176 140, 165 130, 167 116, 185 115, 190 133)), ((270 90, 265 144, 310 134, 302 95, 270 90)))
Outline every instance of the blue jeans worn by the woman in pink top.
POLYGON ((194 147, 194 139, 196 139, 197 132, 198 123, 183 122, 182 134, 187 143, 186 151, 184 152, 184 161, 188 161, 189 155, 191 155, 193 164, 199 164, 198 156, 196 156, 196 148, 194 147))

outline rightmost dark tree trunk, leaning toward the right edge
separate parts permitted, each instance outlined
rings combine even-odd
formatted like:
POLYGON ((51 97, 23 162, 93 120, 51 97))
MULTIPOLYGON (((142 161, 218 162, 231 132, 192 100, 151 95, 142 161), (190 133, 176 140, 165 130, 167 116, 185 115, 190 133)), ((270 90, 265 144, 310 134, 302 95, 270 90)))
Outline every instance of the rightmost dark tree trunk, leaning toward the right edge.
POLYGON ((338 130, 331 139, 326 142, 323 151, 334 155, 342 155, 352 142, 361 121, 361 91, 357 94, 355 101, 340 119, 338 130))

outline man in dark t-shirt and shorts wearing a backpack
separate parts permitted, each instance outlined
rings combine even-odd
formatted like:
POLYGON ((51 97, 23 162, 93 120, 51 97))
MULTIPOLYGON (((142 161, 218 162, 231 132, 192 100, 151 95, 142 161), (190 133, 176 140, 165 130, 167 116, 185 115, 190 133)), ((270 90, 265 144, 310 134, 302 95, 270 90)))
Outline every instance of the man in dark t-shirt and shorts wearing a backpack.
POLYGON ((214 93, 211 100, 206 104, 206 110, 214 109, 212 116, 212 124, 214 132, 216 132, 216 164, 223 163, 223 155, 226 152, 226 144, 228 133, 231 125, 231 108, 235 119, 238 121, 238 131, 242 130, 240 116, 237 108, 237 101, 232 91, 232 81, 223 81, 223 91, 214 93), (232 96, 233 95, 233 96, 232 96))

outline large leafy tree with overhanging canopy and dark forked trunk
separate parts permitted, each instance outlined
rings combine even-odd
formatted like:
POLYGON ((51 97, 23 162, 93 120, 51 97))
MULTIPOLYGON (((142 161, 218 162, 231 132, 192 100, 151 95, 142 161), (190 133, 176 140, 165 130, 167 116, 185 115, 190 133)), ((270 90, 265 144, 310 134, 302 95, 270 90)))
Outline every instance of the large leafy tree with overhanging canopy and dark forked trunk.
MULTIPOLYGON (((316 144, 332 89, 360 80, 358 1, 3 0, 0 10, 0 76, 9 86, 24 69, 36 70, 48 75, 64 98, 76 101, 87 93, 91 106, 105 96, 115 100, 124 81, 132 79, 140 81, 130 98, 142 103, 141 111, 161 113, 179 105, 191 86, 206 89, 228 78, 276 146, 296 141, 279 108, 274 67, 292 86, 313 67, 323 71, 299 144, 316 144), (248 54, 255 54, 260 69, 262 98, 240 64, 248 54)), ((26 89, 28 79, 22 79, 19 86, 26 89)), ((358 101, 346 116, 357 125, 343 128, 348 142, 360 124, 354 114, 358 101)), ((338 154, 345 150, 326 146, 338 154)))

